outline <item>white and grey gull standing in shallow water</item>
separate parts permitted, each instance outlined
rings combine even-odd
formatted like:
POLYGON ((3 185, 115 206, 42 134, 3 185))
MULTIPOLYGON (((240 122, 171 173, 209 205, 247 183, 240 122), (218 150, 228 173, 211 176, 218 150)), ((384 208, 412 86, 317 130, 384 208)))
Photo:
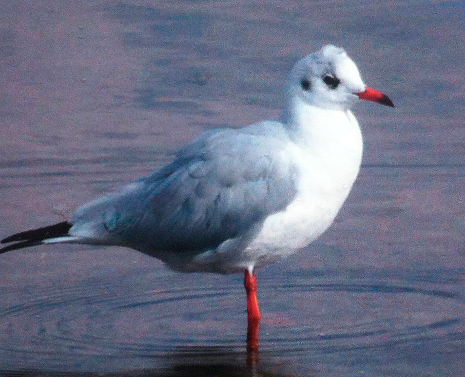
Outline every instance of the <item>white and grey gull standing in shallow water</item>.
POLYGON ((204 132, 174 161, 77 209, 65 222, 16 233, 6 252, 76 243, 126 246, 176 271, 244 271, 248 350, 258 350, 255 268, 304 248, 332 223, 357 177, 359 99, 394 107, 365 86, 333 45, 299 60, 276 120, 204 132))

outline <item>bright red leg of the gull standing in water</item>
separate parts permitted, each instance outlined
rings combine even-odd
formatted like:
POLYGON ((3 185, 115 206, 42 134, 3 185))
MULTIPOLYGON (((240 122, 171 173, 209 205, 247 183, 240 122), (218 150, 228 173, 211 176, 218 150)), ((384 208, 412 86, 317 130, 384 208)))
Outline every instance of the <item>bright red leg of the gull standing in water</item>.
POLYGON ((247 293, 247 350, 256 352, 258 351, 258 328, 261 314, 258 307, 255 273, 245 270, 244 286, 247 293))

